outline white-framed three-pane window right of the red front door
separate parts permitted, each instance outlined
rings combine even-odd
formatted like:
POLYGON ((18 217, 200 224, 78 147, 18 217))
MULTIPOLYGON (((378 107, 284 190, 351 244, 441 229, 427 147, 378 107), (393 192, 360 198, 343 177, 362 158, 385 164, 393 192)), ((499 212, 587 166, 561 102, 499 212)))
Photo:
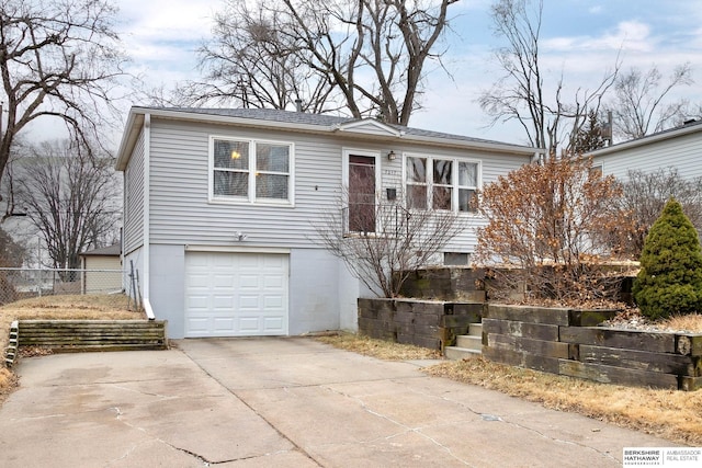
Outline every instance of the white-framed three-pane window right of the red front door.
POLYGON ((423 157, 405 161, 408 208, 477 212, 478 162, 423 157))

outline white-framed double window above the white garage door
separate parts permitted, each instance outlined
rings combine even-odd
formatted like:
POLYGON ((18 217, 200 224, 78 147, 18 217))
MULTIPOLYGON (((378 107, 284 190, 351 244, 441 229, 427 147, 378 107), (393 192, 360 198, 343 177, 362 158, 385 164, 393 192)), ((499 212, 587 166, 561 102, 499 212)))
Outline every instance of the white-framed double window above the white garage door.
POLYGON ((214 199, 291 203, 291 144, 212 139, 214 199))

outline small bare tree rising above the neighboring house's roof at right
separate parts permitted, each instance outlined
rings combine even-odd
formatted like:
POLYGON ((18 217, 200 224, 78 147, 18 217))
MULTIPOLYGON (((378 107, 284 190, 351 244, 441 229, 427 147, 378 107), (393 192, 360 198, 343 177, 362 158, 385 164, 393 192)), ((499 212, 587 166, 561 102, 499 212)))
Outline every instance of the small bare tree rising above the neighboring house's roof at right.
POLYGON ((666 98, 673 89, 692 83, 689 62, 678 66, 665 82, 655 65, 646 72, 632 68, 621 75, 611 104, 615 134, 624 139, 641 138, 681 123, 688 102, 681 99, 667 103, 666 98))

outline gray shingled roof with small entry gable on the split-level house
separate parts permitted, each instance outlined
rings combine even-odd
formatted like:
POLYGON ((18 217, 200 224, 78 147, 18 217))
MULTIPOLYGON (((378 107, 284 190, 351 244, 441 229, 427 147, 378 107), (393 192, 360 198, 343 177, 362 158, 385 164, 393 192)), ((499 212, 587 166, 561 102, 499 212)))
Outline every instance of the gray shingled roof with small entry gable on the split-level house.
POLYGON ((347 137, 482 149, 494 152, 533 156, 537 149, 501 141, 473 138, 401 125, 384 124, 373 118, 351 118, 273 109, 132 107, 120 150, 117 169, 124 170, 146 115, 160 118, 208 122, 238 126, 276 128, 318 135, 342 133, 347 137), (373 132, 369 132, 369 130, 373 132))

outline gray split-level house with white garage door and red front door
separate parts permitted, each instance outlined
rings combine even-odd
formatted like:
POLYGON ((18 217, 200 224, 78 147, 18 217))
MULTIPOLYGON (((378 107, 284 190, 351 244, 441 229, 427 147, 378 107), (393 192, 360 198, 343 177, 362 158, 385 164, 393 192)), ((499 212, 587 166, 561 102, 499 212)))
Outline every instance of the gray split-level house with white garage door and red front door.
POLYGON ((355 330, 356 300, 369 292, 313 226, 339 209, 342 187, 359 190, 350 179, 383 197, 410 185, 428 198, 440 186, 452 193, 450 208, 475 222, 446 255, 466 261, 479 218, 465 202, 533 157, 533 148, 375 119, 133 107, 116 162, 124 264, 135 265, 147 315, 168 320, 171 338, 355 330), (439 167, 449 169, 441 183, 427 175, 439 167))

